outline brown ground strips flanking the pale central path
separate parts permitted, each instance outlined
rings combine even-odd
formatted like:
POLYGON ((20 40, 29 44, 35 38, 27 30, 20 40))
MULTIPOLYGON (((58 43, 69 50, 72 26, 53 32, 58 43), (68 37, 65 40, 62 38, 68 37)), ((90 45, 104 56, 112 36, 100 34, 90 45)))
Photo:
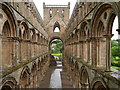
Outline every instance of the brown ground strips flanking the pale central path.
MULTIPOLYGON (((42 81, 39 84, 39 88, 73 88, 72 82, 68 79, 67 73, 65 71, 60 72, 60 79, 61 79, 61 87, 50 85, 51 75, 56 70, 57 67, 50 67, 48 71, 45 73, 45 76, 43 77, 42 81)), ((57 78, 58 79, 58 78, 57 78)), ((60 82, 55 82, 56 84, 60 82)))

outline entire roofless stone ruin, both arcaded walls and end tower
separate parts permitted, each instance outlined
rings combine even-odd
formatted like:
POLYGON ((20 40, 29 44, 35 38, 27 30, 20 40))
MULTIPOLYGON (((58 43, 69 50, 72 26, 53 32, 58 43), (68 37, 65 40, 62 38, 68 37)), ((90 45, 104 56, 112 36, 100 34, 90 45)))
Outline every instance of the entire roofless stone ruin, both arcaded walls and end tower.
POLYGON ((53 39, 63 41, 63 64, 75 88, 120 88, 114 77, 119 73, 110 69, 116 16, 120 34, 120 2, 78 0, 70 19, 70 3, 43 3, 43 9, 44 20, 33 2, 0 3, 0 89, 39 88, 53 39))

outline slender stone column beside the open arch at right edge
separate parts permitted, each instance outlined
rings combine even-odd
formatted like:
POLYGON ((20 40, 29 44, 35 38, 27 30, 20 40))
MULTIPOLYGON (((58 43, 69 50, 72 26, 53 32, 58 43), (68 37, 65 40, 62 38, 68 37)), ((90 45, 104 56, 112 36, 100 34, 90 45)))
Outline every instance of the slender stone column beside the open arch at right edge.
POLYGON ((104 35, 106 38, 106 70, 105 71, 110 71, 111 67, 111 37, 113 34, 107 34, 104 35))

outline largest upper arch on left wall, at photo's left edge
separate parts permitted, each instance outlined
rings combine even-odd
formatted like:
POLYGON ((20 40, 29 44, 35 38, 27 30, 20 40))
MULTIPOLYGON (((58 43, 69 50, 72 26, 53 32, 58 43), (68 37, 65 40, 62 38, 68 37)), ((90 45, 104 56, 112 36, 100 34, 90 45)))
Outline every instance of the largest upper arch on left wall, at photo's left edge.
POLYGON ((12 59, 15 58, 15 43, 12 42, 14 37, 17 36, 17 22, 12 9, 6 3, 0 3, 1 9, 6 16, 5 22, 1 21, 0 33, 3 35, 2 38, 2 66, 3 68, 11 67, 16 61, 12 59))

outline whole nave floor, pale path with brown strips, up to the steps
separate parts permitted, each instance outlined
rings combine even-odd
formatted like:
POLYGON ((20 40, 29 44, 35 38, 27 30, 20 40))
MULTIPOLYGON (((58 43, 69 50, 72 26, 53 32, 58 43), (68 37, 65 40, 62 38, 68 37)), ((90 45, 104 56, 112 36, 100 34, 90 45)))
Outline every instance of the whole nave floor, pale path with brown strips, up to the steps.
POLYGON ((62 69, 62 61, 56 60, 56 62, 57 66, 50 67, 45 73, 39 88, 73 88, 67 73, 62 69))

